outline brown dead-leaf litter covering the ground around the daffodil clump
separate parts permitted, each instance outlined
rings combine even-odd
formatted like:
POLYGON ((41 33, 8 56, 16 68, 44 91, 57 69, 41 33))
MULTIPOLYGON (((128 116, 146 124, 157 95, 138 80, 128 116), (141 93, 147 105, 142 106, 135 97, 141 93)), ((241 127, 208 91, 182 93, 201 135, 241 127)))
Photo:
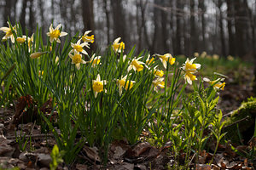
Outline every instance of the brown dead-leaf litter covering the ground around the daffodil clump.
MULTIPOLYGON (((224 116, 230 116, 231 111, 236 110, 243 100, 254 96, 253 69, 244 69, 241 74, 244 75, 237 83, 234 80, 236 75, 234 72, 230 72, 227 75, 229 79, 226 79, 224 91, 220 92, 221 99, 218 106, 224 112, 224 116)), ((0 169, 13 167, 49 169, 50 152, 55 144, 53 134, 41 133, 41 127, 34 122, 15 124, 17 128, 14 128, 12 126, 14 115, 15 107, 0 109, 0 169)), ((143 132, 143 135, 147 136, 148 132, 143 132)), ((214 144, 214 142, 213 139, 209 140, 209 144, 214 144)), ((256 141, 237 146, 236 149, 246 149, 250 144, 256 144, 256 141)), ((172 145, 166 144, 161 148, 156 148, 145 141, 140 141, 132 146, 125 141, 114 141, 109 147, 108 164, 102 166, 99 150, 84 145, 73 164, 67 166, 61 163, 58 169, 182 169, 183 167, 174 167, 177 162, 174 161, 173 153, 168 150, 169 147, 172 145)), ((202 150, 198 164, 195 164, 195 157, 191 154, 189 167, 216 170, 255 169, 253 162, 231 150, 230 144, 219 144, 212 165, 207 165, 212 160, 212 152, 212 150, 202 150)), ((183 153, 179 154, 178 160, 179 166, 182 166, 183 153)))

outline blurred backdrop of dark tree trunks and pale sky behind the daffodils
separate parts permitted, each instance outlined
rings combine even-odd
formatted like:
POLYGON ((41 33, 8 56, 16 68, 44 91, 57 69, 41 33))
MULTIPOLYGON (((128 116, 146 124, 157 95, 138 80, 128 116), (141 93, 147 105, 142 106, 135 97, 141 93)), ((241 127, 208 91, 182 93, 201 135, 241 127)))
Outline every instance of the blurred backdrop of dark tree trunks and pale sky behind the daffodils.
POLYGON ((92 30, 94 49, 122 37, 151 54, 256 56, 256 0, 0 0, 1 26, 8 17, 29 34, 52 21, 70 35, 92 30))

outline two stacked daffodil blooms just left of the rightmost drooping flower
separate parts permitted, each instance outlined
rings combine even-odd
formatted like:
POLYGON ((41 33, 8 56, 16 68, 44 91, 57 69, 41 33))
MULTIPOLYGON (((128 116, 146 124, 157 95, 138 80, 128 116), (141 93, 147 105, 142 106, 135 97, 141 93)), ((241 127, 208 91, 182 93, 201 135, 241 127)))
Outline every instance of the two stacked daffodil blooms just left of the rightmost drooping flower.
POLYGON ((193 64, 195 59, 196 58, 191 60, 187 59, 186 62, 183 64, 183 71, 185 71, 184 79, 190 85, 193 81, 197 80, 194 74, 197 72, 197 69, 200 69, 201 67, 200 64, 193 64))

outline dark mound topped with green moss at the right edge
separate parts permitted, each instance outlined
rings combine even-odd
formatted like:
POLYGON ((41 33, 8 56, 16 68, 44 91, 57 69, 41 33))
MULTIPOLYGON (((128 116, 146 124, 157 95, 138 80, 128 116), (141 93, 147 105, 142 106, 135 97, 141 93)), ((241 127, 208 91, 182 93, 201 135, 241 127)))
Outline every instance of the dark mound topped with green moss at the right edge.
POLYGON ((241 106, 236 111, 233 111, 232 115, 226 120, 226 127, 224 127, 224 132, 227 132, 226 139, 240 144, 239 133, 237 131, 238 125, 241 139, 247 142, 253 136, 255 117, 256 98, 249 98, 247 102, 241 103, 241 106))

